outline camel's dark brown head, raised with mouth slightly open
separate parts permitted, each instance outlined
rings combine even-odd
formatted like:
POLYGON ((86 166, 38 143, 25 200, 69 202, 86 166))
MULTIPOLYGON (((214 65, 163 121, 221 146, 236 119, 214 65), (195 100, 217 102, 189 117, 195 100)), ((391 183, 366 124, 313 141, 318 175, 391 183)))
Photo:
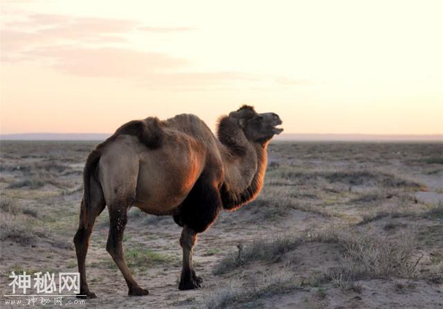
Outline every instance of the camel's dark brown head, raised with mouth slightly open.
POLYGON ((235 118, 242 127, 246 139, 253 142, 266 142, 273 138, 275 134, 280 134, 283 129, 277 127, 282 124, 282 120, 275 113, 257 114, 255 109, 248 105, 243 105, 235 112, 230 112, 229 118, 235 118))

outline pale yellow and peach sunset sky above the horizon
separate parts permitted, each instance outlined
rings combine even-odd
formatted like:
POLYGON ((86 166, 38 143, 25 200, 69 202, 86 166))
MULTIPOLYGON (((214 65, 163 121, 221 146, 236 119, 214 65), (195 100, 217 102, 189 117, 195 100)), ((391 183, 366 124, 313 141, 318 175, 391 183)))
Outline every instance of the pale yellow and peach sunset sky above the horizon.
POLYGON ((242 104, 287 133, 443 134, 443 1, 0 1, 1 134, 242 104))

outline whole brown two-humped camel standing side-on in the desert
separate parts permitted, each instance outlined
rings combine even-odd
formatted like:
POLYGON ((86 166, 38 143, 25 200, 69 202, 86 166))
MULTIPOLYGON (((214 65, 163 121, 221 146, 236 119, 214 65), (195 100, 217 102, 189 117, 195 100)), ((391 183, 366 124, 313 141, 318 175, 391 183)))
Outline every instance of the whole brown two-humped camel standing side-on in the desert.
POLYGON ((106 249, 129 295, 149 293, 136 283, 125 262, 122 240, 131 206, 172 215, 183 227, 179 290, 201 288, 202 279, 192 265, 197 233, 208 229, 222 209, 234 211, 260 193, 266 148, 282 132, 280 124, 277 114, 257 114, 244 105, 219 119, 218 139, 197 116, 180 114, 165 121, 131 121, 98 145, 84 167, 80 223, 73 239, 80 272, 78 297, 96 297, 89 291, 85 259, 94 222, 105 206, 110 221, 106 249))

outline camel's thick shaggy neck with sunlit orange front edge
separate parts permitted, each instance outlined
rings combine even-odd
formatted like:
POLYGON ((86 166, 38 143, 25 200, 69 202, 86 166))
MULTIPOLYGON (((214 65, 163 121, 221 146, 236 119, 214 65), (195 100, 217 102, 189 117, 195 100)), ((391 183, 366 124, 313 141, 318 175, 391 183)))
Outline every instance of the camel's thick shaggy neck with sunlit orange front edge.
POLYGON ((235 210, 253 200, 262 189, 266 171, 267 143, 251 143, 235 121, 226 117, 219 123, 219 141, 224 145, 224 183, 221 200, 224 209, 235 210))

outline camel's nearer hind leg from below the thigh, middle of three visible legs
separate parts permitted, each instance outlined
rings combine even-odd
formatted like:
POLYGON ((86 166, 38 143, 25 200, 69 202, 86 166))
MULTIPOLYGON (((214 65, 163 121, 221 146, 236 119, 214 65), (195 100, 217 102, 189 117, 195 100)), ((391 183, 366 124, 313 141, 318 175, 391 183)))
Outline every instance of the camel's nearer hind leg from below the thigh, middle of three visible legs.
POLYGON ((129 288, 128 294, 132 296, 147 295, 149 292, 140 288, 132 277, 123 253, 122 240, 123 232, 125 231, 127 223, 127 203, 113 203, 108 205, 108 209, 110 225, 106 249, 109 254, 111 254, 114 262, 116 262, 118 268, 120 268, 120 271, 125 277, 127 287, 129 288))

